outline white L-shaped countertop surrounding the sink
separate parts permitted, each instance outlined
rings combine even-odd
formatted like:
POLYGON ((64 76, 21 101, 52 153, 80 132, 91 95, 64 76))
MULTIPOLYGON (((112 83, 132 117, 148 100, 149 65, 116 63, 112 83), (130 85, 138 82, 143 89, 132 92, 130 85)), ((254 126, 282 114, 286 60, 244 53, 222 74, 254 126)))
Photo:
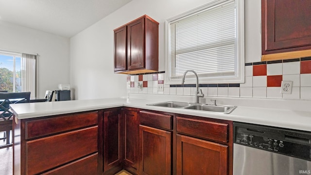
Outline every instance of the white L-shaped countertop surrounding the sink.
POLYGON ((136 98, 108 98, 10 105, 17 119, 51 116, 111 107, 136 107, 193 116, 255 123, 269 126, 311 131, 311 111, 238 106, 230 114, 218 114, 189 109, 158 107, 146 104, 164 102, 163 99, 144 100, 136 98))

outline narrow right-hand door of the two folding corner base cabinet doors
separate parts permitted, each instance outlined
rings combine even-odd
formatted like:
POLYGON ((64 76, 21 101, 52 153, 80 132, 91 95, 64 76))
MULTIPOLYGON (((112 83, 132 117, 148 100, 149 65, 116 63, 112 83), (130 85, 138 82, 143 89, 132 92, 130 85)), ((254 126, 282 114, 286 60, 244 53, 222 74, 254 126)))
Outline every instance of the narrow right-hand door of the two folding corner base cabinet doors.
MULTIPOLYGON (((134 169, 127 169, 131 173, 138 171, 138 138, 139 124, 138 113, 131 110, 124 112, 124 163, 134 169), (134 171, 134 172, 133 172, 134 171)), ((126 167, 126 166, 125 166, 126 167)))

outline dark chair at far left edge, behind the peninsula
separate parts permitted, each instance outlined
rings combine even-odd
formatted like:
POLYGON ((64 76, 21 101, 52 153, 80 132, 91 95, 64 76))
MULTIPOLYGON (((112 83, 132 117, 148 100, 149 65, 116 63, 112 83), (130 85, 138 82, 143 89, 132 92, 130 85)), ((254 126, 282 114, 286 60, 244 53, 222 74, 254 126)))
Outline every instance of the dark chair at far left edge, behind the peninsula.
POLYGON ((4 137, 0 140, 6 140, 6 144, 0 146, 0 148, 12 146, 12 143, 10 143, 10 131, 13 129, 13 113, 9 105, 29 103, 29 100, 30 92, 0 93, 0 132, 4 131, 4 137))

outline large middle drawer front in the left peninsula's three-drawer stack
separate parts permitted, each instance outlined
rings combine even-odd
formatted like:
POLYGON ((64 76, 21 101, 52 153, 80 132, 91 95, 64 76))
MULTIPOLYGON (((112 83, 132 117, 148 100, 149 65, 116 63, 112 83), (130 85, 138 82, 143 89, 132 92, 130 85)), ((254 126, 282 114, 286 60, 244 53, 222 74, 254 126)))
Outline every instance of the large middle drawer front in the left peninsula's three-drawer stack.
POLYGON ((37 174, 97 152, 98 127, 26 142, 26 172, 37 174))

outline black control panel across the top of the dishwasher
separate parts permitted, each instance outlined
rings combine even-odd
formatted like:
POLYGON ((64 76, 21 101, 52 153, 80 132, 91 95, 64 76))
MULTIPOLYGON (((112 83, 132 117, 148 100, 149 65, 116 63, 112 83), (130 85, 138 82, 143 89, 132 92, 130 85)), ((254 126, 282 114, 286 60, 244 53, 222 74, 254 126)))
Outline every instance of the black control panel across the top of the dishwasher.
POLYGON ((311 161, 311 132, 234 123, 234 143, 311 161))

